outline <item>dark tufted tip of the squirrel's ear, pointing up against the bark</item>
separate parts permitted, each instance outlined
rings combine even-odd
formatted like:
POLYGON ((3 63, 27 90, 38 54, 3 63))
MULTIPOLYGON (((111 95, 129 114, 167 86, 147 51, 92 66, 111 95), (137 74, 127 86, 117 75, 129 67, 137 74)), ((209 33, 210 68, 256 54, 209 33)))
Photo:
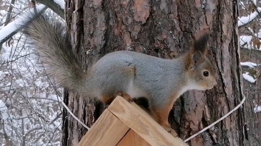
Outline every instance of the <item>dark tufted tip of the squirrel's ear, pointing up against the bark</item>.
POLYGON ((194 40, 193 42, 193 53, 196 53, 196 52, 201 52, 201 54, 205 54, 206 52, 206 46, 207 46, 207 43, 208 43, 208 38, 209 38, 209 34, 206 33, 204 34, 203 36, 201 36, 200 38, 194 40))

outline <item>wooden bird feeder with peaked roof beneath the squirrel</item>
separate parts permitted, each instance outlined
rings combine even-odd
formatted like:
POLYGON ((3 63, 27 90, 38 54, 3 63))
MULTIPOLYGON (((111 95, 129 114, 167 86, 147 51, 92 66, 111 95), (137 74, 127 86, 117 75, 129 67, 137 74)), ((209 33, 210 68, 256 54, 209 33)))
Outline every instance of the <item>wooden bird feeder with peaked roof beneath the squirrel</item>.
POLYGON ((173 137, 145 110, 116 97, 77 146, 188 146, 173 137))

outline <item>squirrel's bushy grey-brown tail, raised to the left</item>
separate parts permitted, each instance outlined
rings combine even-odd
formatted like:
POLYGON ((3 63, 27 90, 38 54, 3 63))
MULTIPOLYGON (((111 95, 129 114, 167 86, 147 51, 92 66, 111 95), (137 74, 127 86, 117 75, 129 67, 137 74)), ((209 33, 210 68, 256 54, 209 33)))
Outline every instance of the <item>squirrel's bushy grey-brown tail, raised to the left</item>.
MULTIPOLYGON (((28 18, 30 19, 30 18, 28 18)), ((32 41, 47 74, 68 89, 81 92, 86 75, 72 52, 69 37, 61 23, 51 23, 46 16, 37 16, 24 29, 32 41)))

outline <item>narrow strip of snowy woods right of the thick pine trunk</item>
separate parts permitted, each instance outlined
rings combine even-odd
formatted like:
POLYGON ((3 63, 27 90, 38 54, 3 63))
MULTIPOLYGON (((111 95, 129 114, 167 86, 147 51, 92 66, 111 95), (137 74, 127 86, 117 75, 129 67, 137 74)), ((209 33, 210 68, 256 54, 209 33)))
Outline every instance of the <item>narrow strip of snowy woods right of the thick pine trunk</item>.
POLYGON ((244 82, 247 145, 261 145, 261 1, 240 1, 239 42, 244 82))

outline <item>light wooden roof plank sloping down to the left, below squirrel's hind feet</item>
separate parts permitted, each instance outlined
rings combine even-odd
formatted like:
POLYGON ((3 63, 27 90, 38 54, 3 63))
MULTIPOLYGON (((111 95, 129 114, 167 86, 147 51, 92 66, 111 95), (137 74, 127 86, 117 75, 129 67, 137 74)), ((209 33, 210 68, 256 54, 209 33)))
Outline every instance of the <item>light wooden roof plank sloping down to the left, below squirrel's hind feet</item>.
POLYGON ((106 109, 77 145, 115 146, 128 130, 127 125, 106 109))

